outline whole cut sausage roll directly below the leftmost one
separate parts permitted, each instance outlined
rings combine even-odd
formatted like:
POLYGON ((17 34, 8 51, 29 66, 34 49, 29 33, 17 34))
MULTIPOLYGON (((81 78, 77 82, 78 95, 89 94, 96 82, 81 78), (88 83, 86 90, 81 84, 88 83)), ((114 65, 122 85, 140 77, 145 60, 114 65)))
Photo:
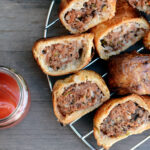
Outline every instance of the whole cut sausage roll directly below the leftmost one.
POLYGON ((54 113, 66 125, 99 107, 109 99, 110 93, 99 74, 82 70, 58 80, 52 97, 54 113))

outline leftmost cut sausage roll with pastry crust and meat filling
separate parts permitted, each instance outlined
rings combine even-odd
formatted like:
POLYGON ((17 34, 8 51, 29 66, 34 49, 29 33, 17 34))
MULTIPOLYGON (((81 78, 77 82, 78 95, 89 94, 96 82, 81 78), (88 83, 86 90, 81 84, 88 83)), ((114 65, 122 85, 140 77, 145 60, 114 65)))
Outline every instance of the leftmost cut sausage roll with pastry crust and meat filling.
POLYGON ((44 73, 65 75, 81 70, 92 57, 93 34, 68 35, 37 41, 33 55, 44 73))

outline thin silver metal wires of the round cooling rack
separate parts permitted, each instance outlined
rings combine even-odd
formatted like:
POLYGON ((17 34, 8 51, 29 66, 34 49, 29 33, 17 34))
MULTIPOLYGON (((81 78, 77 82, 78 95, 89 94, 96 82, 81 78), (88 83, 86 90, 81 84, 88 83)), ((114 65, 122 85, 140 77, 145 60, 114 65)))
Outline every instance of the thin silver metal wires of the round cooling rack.
MULTIPOLYGON (((57 18, 56 20, 52 21, 51 23, 49 23, 49 19, 51 16, 51 12, 53 9, 53 6, 55 4, 55 0, 52 0, 50 3, 50 7, 49 7, 49 11, 47 14, 47 19, 46 19, 46 23, 45 23, 45 29, 44 29, 44 38, 47 38, 47 33, 48 33, 48 29, 53 26, 57 21, 59 21, 59 18, 57 18)), ((150 22, 150 21, 149 21, 150 22)), ((144 47, 141 47, 140 49, 137 50, 137 52, 140 52, 144 49, 144 47)), ((90 65, 94 64, 96 61, 98 61, 100 58, 97 57, 94 60, 92 60, 86 67, 84 67, 83 69, 86 69, 87 67, 89 67, 90 65)), ((104 73, 102 75, 102 77, 104 78, 105 76, 107 76, 107 72, 104 73)), ((47 75, 47 80, 48 80, 48 84, 49 84, 49 88, 50 91, 52 92, 52 82, 50 79, 50 76, 47 75)), ((114 93, 111 93, 111 96, 114 93)), ((86 133, 85 135, 81 135, 81 133, 75 128, 74 124, 77 123, 81 118, 73 121, 72 123, 69 124, 70 128, 73 130, 73 132, 78 136, 79 139, 81 139, 81 141, 87 145, 91 150, 97 150, 92 144, 90 144, 86 139, 91 136, 93 134, 93 130, 89 131, 88 133, 86 133)), ((145 143, 148 139, 150 139, 150 135, 148 137, 146 137, 144 140, 142 140, 141 142, 139 142, 137 145, 135 145, 134 147, 132 147, 130 150, 135 150, 136 148, 138 148, 139 146, 141 146, 143 143, 145 143)), ((99 150, 104 150, 104 148, 100 148, 99 150)))

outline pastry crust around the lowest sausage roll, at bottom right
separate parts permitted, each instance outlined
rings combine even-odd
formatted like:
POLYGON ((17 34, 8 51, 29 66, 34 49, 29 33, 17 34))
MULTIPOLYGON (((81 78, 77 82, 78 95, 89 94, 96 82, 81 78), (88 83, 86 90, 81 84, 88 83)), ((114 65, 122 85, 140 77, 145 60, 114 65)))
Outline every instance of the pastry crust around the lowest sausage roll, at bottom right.
POLYGON ((99 146, 103 146, 105 149, 109 149, 114 143, 127 138, 129 135, 139 134, 143 131, 150 129, 150 122, 144 124, 137 128, 136 130, 131 130, 126 135, 121 135, 119 137, 108 137, 100 132, 100 124, 103 120, 109 115, 110 111, 117 106, 118 104, 125 103, 127 101, 134 101, 139 104, 140 107, 144 108, 148 112, 150 112, 150 97, 149 96, 138 96, 136 94, 132 94, 122 98, 111 99, 107 101, 104 105, 102 105, 94 116, 94 136, 97 140, 97 144, 99 146))

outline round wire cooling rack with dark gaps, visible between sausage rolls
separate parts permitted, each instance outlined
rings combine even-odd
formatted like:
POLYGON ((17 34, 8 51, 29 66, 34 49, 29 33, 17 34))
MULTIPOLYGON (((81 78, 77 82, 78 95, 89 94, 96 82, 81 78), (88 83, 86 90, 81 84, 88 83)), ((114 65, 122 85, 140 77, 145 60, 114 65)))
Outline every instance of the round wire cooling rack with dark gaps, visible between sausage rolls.
MULTIPOLYGON (((57 2, 58 4, 59 2, 57 2)), ((52 16, 52 10, 54 9, 54 6, 56 4, 56 0, 52 0, 50 3, 50 7, 49 7, 49 11, 47 14, 47 19, 46 19, 46 23, 45 23, 45 29, 44 29, 44 38, 48 37, 48 33, 51 36, 51 31, 49 31, 49 29, 51 29, 52 27, 54 27, 57 24, 57 29, 58 26, 61 26, 61 23, 59 21, 58 16, 56 17, 55 20, 50 22, 51 16, 52 16)), ((150 21, 150 17, 144 15, 149 21, 150 21)), ((55 28, 54 28, 55 29, 55 28)), ((62 30, 65 30, 62 28, 62 30)), ((62 34, 60 34, 62 35, 62 34)), ((131 51, 131 50, 137 50, 138 52, 143 53, 144 47, 142 44, 142 41, 136 43, 134 46, 130 47, 127 51, 131 51)), ((101 76, 104 78, 104 80, 107 78, 107 72, 105 70, 106 66, 106 62, 101 60, 98 56, 95 56, 93 58, 93 60, 83 69, 90 69, 90 70, 94 70, 98 73, 101 74, 101 76)), ((47 76, 47 80, 48 80, 48 84, 50 87, 50 92, 52 92, 52 87, 53 84, 55 83, 56 80, 60 79, 60 78, 64 78, 66 76, 61 76, 61 77, 51 77, 51 76, 47 76)), ((111 96, 113 96, 114 93, 111 93, 111 96)), ((95 112, 95 111, 94 111, 95 112)), ((96 140, 94 139, 93 136, 93 115, 94 112, 91 112, 89 114, 87 114, 86 116, 79 118, 75 121, 73 121, 72 123, 69 124, 69 127, 72 129, 72 131, 77 135, 77 137, 85 144, 89 147, 89 149, 91 150, 103 150, 102 147, 98 147, 96 144, 96 140)), ((112 146, 111 150, 148 150, 150 149, 150 145, 149 144, 144 144, 146 142, 148 142, 148 140, 150 139, 150 130, 140 134, 140 135, 133 135, 128 137, 127 139, 124 139, 120 142, 117 142, 116 144, 114 144, 114 146, 112 146)))

